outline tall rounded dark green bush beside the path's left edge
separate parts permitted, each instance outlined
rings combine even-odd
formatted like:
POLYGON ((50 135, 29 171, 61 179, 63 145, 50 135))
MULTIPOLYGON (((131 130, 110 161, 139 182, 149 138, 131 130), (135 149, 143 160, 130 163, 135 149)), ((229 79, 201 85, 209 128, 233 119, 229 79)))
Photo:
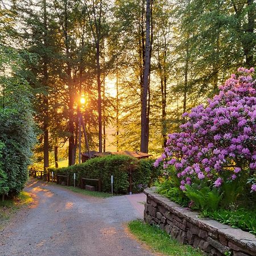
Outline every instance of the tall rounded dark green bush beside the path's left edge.
MULTIPOLYGON (((34 121, 30 104, 30 90, 20 74, 21 57, 12 49, 0 48, 0 71, 6 65, 13 76, 0 76, 0 163, 7 175, 9 195, 18 194, 27 181, 27 167, 35 143, 34 121)), ((3 175, 5 176, 5 175, 3 175)))

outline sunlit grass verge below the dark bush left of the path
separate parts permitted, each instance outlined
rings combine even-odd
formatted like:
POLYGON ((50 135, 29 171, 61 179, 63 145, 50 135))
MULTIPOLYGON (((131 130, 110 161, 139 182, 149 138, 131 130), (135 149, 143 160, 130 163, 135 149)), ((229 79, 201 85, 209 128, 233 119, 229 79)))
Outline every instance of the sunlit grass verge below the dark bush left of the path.
POLYGON ((20 192, 13 200, 0 201, 0 230, 21 207, 32 201, 30 194, 24 191, 20 192))

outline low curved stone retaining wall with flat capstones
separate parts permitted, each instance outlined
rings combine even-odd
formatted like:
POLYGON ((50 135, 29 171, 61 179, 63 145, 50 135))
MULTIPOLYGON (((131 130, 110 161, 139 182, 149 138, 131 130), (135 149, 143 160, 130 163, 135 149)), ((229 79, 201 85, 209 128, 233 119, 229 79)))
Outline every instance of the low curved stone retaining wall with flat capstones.
POLYGON ((155 189, 145 189, 147 203, 144 220, 148 224, 159 225, 181 243, 199 247, 209 255, 256 256, 256 237, 241 229, 209 218, 199 218, 193 212, 154 193, 155 189))

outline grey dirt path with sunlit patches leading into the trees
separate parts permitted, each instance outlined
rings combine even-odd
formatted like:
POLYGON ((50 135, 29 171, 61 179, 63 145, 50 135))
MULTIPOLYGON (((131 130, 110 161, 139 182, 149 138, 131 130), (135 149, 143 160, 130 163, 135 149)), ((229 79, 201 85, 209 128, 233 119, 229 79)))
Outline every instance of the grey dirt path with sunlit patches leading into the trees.
POLYGON ((141 217, 127 196, 100 199, 38 181, 26 191, 35 203, 0 231, 0 255, 153 255, 125 232, 141 217))

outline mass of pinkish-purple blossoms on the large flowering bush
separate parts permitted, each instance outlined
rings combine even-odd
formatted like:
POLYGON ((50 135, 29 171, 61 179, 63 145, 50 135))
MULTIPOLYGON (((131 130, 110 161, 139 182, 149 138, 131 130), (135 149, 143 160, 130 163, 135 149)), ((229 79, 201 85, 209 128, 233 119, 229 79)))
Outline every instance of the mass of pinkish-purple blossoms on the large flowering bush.
MULTIPOLYGON (((239 68, 220 93, 184 113, 187 122, 180 133, 168 135, 167 147, 154 166, 175 165, 184 189, 188 178, 212 180, 220 187, 228 179, 237 179, 241 168, 256 169, 256 82, 254 68, 239 68)), ((191 179, 189 180, 191 183, 191 179)), ((253 191, 255 186, 251 188, 253 191)))

